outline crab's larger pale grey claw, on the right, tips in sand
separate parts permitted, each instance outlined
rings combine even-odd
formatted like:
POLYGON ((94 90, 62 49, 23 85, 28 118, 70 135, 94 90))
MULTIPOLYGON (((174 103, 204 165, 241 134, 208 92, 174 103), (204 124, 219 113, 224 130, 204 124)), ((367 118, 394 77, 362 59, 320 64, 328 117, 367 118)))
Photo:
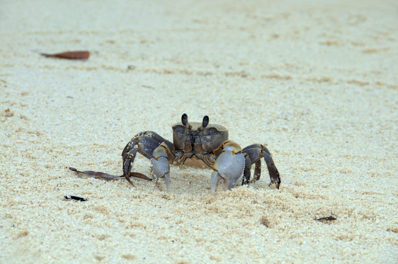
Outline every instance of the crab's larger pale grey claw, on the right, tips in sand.
MULTIPOLYGON (((245 157, 242 148, 234 142, 227 140, 220 148, 222 153, 217 157, 211 175, 211 190, 214 193, 219 179, 224 179, 224 189, 230 190, 236 182, 242 179, 245 169, 245 157)), ((219 149, 216 151, 219 151, 219 149)))

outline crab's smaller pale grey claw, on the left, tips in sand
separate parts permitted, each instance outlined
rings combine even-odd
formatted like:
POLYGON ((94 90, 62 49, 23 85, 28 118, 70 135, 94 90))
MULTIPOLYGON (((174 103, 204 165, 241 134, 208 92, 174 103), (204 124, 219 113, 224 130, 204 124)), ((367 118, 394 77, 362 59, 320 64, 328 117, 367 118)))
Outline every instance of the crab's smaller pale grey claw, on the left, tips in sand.
POLYGON ((156 187, 161 190, 161 186, 159 183, 159 179, 163 178, 166 182, 167 190, 170 190, 170 163, 167 159, 168 155, 170 155, 170 150, 167 145, 162 143, 158 148, 156 148, 152 156, 153 158, 150 160, 152 163, 151 172, 153 174, 156 187))

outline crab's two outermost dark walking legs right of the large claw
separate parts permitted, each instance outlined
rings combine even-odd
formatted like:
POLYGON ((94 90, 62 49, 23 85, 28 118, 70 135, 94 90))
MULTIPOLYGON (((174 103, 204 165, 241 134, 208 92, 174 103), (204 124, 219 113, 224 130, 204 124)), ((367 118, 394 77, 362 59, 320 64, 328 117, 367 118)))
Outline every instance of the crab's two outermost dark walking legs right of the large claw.
POLYGON ((268 149, 261 144, 253 144, 244 148, 242 152, 249 156, 252 164, 256 163, 256 167, 254 167, 254 179, 256 181, 260 179, 261 176, 261 157, 263 157, 265 163, 267 163, 269 178, 271 179, 271 183, 269 185, 275 184, 279 189, 281 178, 279 177, 278 169, 276 168, 268 149))

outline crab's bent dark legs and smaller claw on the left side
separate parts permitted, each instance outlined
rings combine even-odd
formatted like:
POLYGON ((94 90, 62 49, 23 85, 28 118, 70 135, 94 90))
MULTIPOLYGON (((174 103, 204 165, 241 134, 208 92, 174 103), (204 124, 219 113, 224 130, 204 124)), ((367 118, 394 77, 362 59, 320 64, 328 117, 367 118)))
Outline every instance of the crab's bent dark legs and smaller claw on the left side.
MULTIPOLYGON (((153 165, 152 172, 155 175, 157 186, 159 186, 158 179, 162 177, 165 177, 165 180, 168 179, 169 161, 174 159, 173 143, 165 140, 153 131, 145 131, 137 134, 125 146, 122 152, 123 175, 131 184, 133 184, 130 180, 130 175, 132 174, 131 169, 133 168, 133 162, 137 155, 137 152, 141 153, 146 158, 151 159, 151 163, 153 165), (160 159, 160 157, 162 158, 160 159), (155 158, 156 161, 152 161, 153 158, 155 158)), ((166 186, 168 186, 168 189, 170 188, 169 180, 166 180, 166 186)))

